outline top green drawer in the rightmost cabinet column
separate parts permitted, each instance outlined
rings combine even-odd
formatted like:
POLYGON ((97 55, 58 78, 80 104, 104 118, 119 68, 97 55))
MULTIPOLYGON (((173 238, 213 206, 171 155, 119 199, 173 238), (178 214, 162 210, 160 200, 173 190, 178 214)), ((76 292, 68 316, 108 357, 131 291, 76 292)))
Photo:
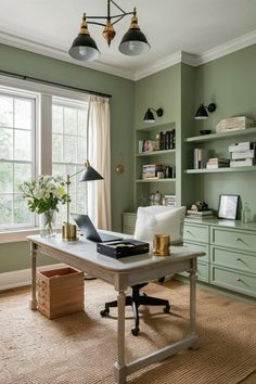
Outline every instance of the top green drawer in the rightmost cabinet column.
POLYGON ((239 251, 256 252, 256 235, 245 231, 228 230, 226 228, 212 229, 212 243, 229 246, 239 251))

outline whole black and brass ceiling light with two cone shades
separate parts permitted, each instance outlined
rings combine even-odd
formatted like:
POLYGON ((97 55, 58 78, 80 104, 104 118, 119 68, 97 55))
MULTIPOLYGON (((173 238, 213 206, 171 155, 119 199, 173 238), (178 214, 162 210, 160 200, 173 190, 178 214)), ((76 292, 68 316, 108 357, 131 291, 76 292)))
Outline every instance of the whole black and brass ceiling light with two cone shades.
POLYGON ((119 51, 129 56, 136 56, 149 52, 151 47, 145 38, 145 35, 142 34, 138 25, 136 8, 133 9, 133 12, 125 12, 113 0, 107 0, 106 16, 87 16, 86 13, 84 13, 80 31, 78 36, 75 38, 75 40, 73 41, 73 44, 68 51, 69 55, 76 60, 86 61, 86 62, 98 60, 101 53, 97 47, 95 41, 90 36, 87 25, 95 24, 95 25, 103 26, 104 29, 102 35, 110 47, 111 41, 114 39, 116 35, 113 25, 127 15, 132 15, 131 23, 128 31, 124 35, 121 42, 118 47, 119 51), (113 16, 111 15, 111 3, 114 4, 120 11, 119 14, 113 16), (89 20, 101 20, 101 18, 106 20, 105 24, 89 21, 89 20))

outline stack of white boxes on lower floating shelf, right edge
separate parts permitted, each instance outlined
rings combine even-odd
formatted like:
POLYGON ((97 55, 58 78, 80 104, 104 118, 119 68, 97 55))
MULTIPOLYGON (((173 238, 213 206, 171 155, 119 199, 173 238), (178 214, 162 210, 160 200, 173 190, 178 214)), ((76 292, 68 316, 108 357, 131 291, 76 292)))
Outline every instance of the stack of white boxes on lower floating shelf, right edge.
POLYGON ((230 167, 244 167, 255 165, 255 142, 240 142, 229 146, 231 156, 230 167))

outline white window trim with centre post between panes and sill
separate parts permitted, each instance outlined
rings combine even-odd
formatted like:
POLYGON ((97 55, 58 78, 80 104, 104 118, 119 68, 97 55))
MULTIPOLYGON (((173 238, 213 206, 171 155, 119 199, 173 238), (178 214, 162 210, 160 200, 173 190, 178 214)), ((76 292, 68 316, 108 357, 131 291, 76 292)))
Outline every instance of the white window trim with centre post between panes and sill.
MULTIPOLYGON (((89 94, 68 90, 61 87, 52 87, 40 82, 22 80, 8 76, 0 75, 0 86, 9 89, 15 89, 21 93, 29 93, 36 95, 36 146, 35 151, 35 176, 51 175, 52 172, 52 98, 74 99, 89 103, 89 94), (38 112, 38 113, 37 113, 38 112), (43 135, 42 135, 43 132, 43 135)), ((36 226, 38 226, 38 218, 36 216, 36 226)), ((23 241, 28 234, 38 233, 39 228, 15 228, 0 230, 0 243, 8 243, 12 241, 23 241)))

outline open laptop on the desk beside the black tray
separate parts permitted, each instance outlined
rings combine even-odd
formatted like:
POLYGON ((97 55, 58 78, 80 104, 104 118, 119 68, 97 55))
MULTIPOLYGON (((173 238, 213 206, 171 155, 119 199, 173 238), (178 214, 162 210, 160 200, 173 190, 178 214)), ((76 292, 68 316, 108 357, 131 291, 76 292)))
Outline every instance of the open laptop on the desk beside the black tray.
POLYGON ((94 241, 95 243, 123 240, 113 234, 97 231, 88 215, 71 214, 71 216, 75 220, 77 227, 81 230, 84 236, 88 240, 94 241))

